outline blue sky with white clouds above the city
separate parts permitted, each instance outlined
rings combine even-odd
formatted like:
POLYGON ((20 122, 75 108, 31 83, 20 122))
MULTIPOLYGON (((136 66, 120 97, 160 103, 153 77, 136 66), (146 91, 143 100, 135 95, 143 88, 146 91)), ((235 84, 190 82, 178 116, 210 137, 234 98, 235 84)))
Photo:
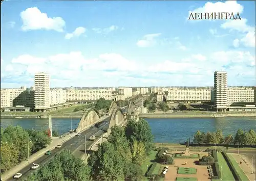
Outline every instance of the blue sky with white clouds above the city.
POLYGON ((255 85, 255 1, 5 1, 1 88, 255 85), (241 20, 188 20, 190 13, 241 20))

